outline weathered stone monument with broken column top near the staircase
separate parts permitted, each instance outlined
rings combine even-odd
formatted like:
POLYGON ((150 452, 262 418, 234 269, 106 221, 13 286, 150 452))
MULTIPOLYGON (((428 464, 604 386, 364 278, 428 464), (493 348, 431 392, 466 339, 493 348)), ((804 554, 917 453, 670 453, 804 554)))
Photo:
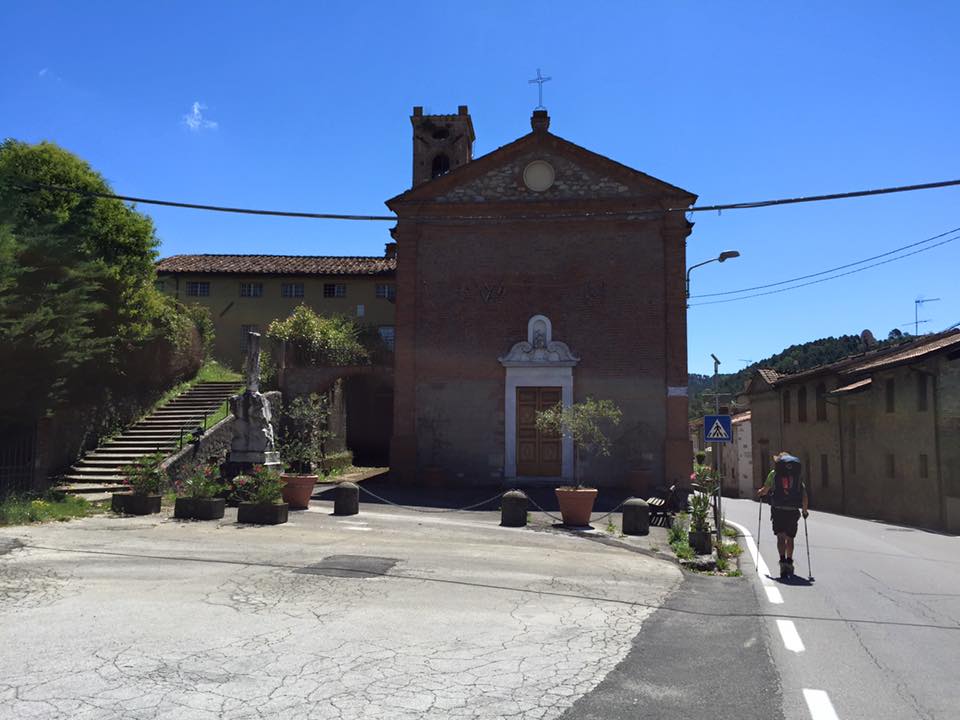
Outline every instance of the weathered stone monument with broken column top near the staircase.
POLYGON ((281 471, 270 424, 270 402, 260 393, 260 333, 251 332, 247 338, 247 389, 230 398, 230 412, 236 420, 227 465, 235 474, 252 465, 281 471))

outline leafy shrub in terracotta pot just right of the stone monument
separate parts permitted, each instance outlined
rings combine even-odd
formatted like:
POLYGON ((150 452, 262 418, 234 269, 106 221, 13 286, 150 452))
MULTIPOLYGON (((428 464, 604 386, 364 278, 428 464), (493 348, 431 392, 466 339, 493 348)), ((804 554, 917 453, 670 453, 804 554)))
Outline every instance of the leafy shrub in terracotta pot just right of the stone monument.
POLYGON ((280 456, 287 465, 281 475, 283 500, 293 510, 305 510, 320 478, 313 472, 323 467, 326 441, 333 433, 327 426, 330 400, 316 393, 298 397, 284 408, 281 418, 280 456))

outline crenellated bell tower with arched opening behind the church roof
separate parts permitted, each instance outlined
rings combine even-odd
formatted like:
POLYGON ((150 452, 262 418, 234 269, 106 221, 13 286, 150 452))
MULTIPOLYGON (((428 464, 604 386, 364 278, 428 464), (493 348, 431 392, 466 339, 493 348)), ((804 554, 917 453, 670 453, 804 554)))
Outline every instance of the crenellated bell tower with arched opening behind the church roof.
POLYGON ((446 175, 473 158, 473 121, 467 106, 456 115, 424 115, 413 108, 413 187, 446 175))

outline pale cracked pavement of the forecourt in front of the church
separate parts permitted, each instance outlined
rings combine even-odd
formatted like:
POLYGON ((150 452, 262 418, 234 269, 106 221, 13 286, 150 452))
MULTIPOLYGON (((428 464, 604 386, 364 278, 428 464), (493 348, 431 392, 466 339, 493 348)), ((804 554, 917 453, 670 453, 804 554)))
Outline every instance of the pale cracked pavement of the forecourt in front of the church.
POLYGON ((681 580, 497 513, 330 511, 0 529, 0 718, 556 718, 681 580), (397 562, 296 572, 334 555, 397 562))

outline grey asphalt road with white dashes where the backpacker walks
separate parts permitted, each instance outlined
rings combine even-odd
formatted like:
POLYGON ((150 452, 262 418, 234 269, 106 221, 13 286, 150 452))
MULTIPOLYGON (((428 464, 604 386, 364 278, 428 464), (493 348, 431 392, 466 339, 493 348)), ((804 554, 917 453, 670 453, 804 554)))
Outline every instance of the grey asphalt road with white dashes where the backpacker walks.
MULTIPOLYGON (((756 535, 757 503, 724 510, 756 535)), ((776 576, 769 506, 762 513, 760 555, 776 576)), ((784 716, 960 717, 960 538, 816 511, 808 528, 812 583, 802 524, 795 584, 762 577, 747 553, 742 563, 770 616, 784 716)))

